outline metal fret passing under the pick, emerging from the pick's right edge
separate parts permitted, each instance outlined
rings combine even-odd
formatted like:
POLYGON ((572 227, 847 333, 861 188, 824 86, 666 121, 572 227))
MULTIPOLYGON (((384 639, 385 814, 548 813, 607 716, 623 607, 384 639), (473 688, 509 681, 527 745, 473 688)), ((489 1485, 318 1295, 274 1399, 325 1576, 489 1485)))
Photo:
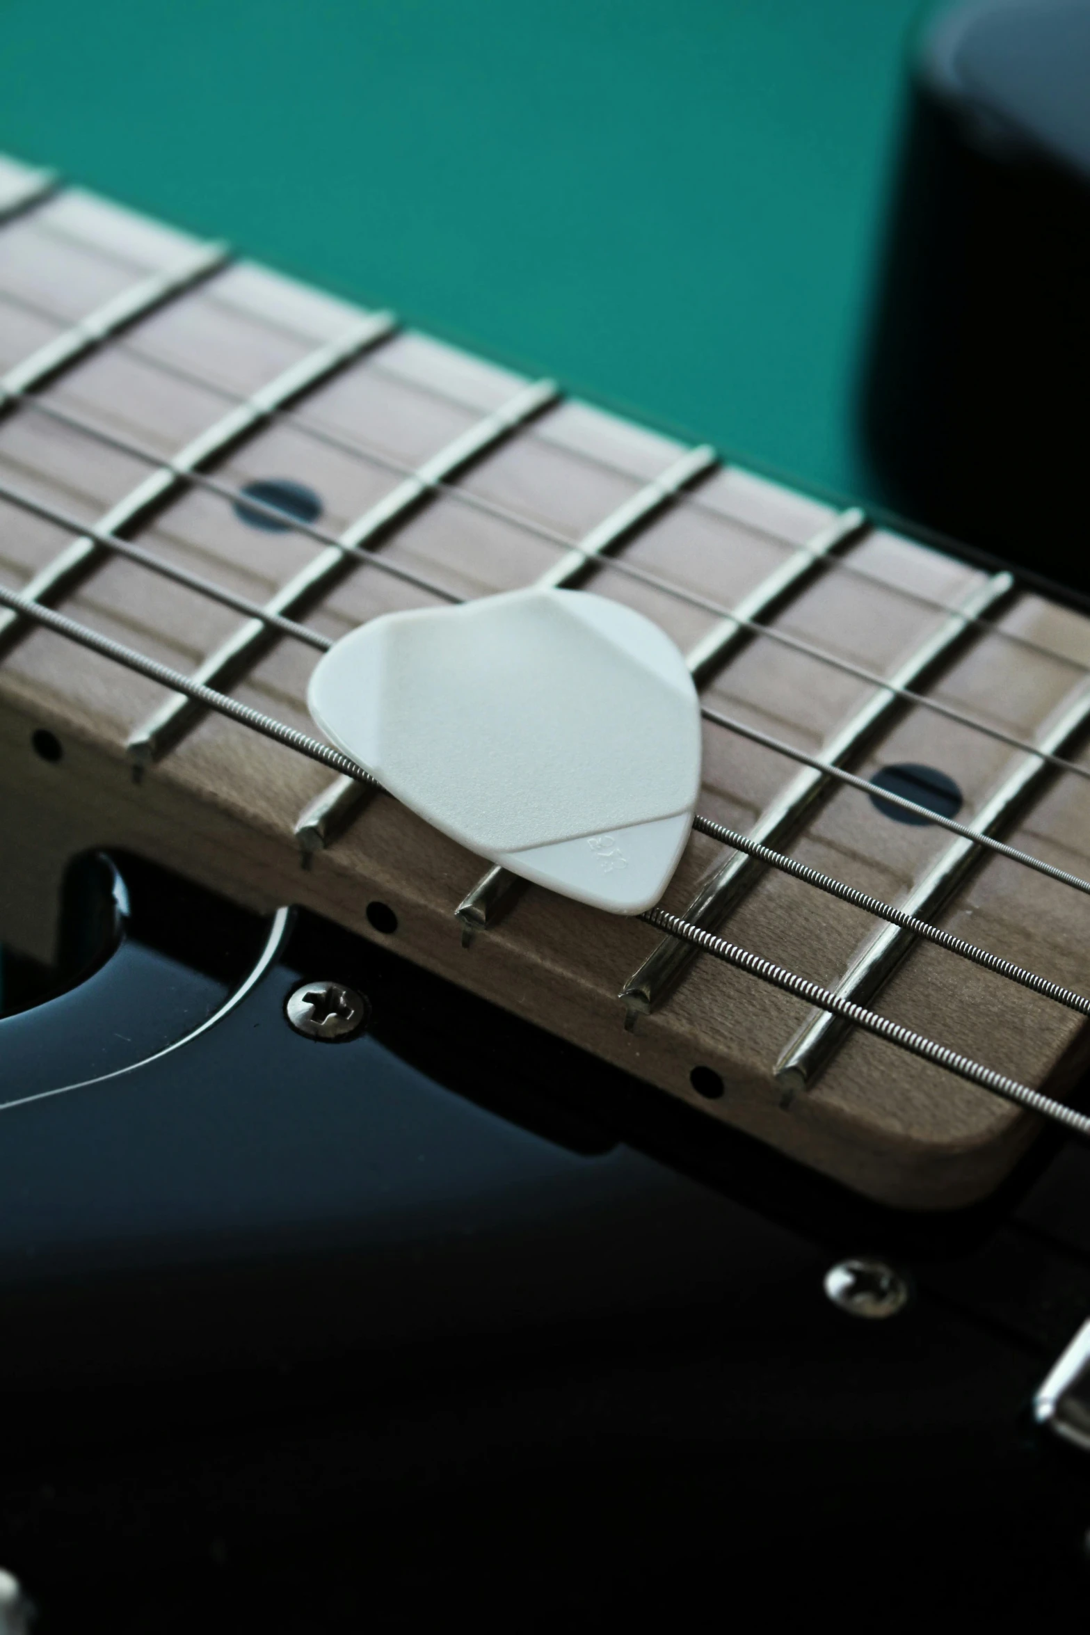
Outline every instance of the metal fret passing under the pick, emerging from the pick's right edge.
MULTIPOLYGON (((726 664, 755 634, 750 628, 753 621, 768 618, 788 597, 802 590, 814 574, 820 571, 824 559, 842 546, 858 540, 866 526, 864 513, 851 507, 851 510, 842 512, 840 517, 833 517, 829 526, 822 528, 807 544, 793 551, 775 572, 762 579, 739 602, 737 608, 714 625, 686 654, 685 662, 693 680, 699 685, 713 669, 726 664)), ((510 893, 516 885, 521 885, 518 876, 497 865, 487 875, 482 875, 477 885, 466 893, 454 909, 454 919, 461 921, 462 927, 462 948, 469 948, 479 930, 489 930, 495 924, 500 909, 510 901, 510 893)))

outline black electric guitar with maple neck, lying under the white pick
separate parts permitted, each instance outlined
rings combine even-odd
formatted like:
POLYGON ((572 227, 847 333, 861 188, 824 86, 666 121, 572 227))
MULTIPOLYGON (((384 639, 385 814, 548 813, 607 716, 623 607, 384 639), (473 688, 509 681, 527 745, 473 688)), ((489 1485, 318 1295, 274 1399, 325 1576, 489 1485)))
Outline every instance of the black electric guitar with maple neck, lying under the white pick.
POLYGON ((462 1588, 552 1560, 556 1607, 784 1539, 878 1588, 896 1535, 912 1620, 966 1537, 1010 1606, 1023 1529, 1067 1607, 1085 605, 15 162, 0 213, 0 1558, 49 1627, 98 1627, 119 1535, 147 1596, 199 1557, 206 1627, 235 1547, 294 1606, 289 1493, 387 1588, 417 1527, 462 1588), (482 863, 307 714, 355 626, 531 584, 699 690, 644 916, 482 863), (266 1467, 315 1380, 337 1431, 266 1467))

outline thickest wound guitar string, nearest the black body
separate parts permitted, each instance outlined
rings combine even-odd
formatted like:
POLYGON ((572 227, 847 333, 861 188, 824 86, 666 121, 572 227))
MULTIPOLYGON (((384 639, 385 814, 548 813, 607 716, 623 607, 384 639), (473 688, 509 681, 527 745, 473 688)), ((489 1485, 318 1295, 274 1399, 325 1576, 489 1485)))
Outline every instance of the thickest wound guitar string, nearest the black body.
MULTIPOLYGON (((291 728, 283 721, 276 721, 275 718, 263 714, 260 710, 253 710, 250 705, 243 705, 226 693, 216 693, 212 688, 203 687, 199 682, 193 682, 180 670, 173 670, 170 665, 160 664, 157 659, 149 659, 144 654, 136 652, 132 647, 126 647, 123 643, 113 641, 109 636, 101 636, 98 631, 77 623, 65 613, 57 613, 54 608, 31 602, 3 585, 0 585, 0 603, 10 607, 16 613, 21 613, 25 618, 33 620, 46 629, 64 636, 65 639, 75 641, 82 647, 101 654, 114 664, 121 664, 139 675, 145 675, 160 687, 186 693, 206 708, 216 710, 217 713, 239 721, 242 726, 248 726, 253 731, 261 732, 265 737, 307 755, 310 760, 322 762, 335 772, 358 778, 376 790, 381 788, 377 780, 373 778, 364 767, 360 767, 340 750, 322 744, 319 739, 301 732, 297 728, 291 728)), ((1007 1100, 1018 1102, 1021 1107, 1028 1107, 1033 1112, 1064 1125, 1067 1130, 1082 1136, 1090 1136, 1090 1117, 1065 1107, 1062 1102, 1044 1095, 1041 1091, 1034 1091, 1028 1084, 1021 1084, 1018 1079, 997 1073, 994 1068, 987 1068, 946 1045, 940 1045, 922 1033, 915 1033, 912 1028, 891 1022, 889 1019, 881 1017, 873 1010, 866 1010, 851 1001, 845 1001, 838 994, 820 988, 817 983, 811 983, 804 976, 775 965, 771 960, 763 960, 760 955, 750 953, 737 943, 727 943, 722 938, 701 930, 698 925, 691 925, 688 921, 683 921, 675 914, 668 914, 665 909, 649 909, 641 916, 641 919, 659 930, 667 930, 670 935, 693 942, 704 952, 713 953, 716 958, 721 958, 729 965, 735 965, 739 970, 757 976, 760 981, 773 988, 780 988, 799 999, 806 999, 809 1004, 817 1006, 822 1010, 832 1010, 837 1015, 847 1017, 866 1032, 896 1045, 899 1050, 922 1056, 935 1066, 945 1068, 946 1071, 979 1086, 984 1091, 990 1091, 1007 1100)))

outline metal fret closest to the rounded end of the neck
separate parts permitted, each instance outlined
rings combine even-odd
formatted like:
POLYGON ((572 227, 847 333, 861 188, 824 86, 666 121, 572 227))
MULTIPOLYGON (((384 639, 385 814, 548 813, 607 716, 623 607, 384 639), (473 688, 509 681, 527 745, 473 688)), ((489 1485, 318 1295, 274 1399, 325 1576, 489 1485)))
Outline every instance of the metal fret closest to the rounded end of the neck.
MULTIPOLYGON (((1041 749, 1049 754, 1070 750, 1088 726, 1090 687, 1080 690, 1056 726, 1043 736, 1041 749)), ((1048 760, 1039 755, 1025 755, 984 803, 969 827, 979 834, 995 835, 1025 809, 1051 770, 1048 760)), ((972 840, 954 840, 912 888, 900 904, 902 912, 917 919, 933 919, 981 860, 981 847, 974 845, 972 840)), ((855 1002, 871 1001, 889 981, 915 940, 912 930, 899 925, 879 929, 851 961, 835 992, 855 1002)), ((850 1027, 848 1020, 829 1012, 802 1024, 776 1063, 776 1079, 788 1095, 814 1084, 843 1043, 850 1027)))

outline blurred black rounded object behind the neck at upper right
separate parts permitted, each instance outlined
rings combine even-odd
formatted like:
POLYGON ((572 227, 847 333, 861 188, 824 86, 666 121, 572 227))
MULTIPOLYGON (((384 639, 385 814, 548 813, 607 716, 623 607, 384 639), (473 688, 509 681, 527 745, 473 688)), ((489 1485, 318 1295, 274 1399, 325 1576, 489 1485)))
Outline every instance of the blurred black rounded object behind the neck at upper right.
POLYGON ((1090 3, 922 39, 864 387, 902 512, 1090 590, 1090 3))

